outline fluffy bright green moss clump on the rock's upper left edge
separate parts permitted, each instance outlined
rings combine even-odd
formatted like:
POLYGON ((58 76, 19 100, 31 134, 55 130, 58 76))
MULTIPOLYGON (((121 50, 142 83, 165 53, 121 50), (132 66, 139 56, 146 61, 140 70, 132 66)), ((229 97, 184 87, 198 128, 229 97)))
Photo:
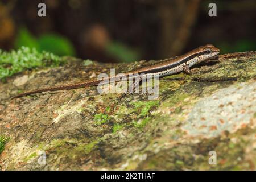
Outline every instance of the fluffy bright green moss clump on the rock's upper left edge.
POLYGON ((36 49, 21 47, 17 51, 5 52, 0 49, 0 79, 36 67, 49 67, 63 64, 65 61, 53 53, 42 53, 36 49))

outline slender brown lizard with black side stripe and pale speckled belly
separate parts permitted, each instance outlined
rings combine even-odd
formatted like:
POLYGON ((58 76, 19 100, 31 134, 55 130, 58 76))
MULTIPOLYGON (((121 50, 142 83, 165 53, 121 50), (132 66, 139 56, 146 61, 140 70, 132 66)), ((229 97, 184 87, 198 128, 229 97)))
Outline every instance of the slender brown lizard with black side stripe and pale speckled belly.
MULTIPOLYGON (((190 67, 192 67, 196 63, 199 63, 200 61, 208 59, 209 57, 213 57, 218 53, 220 53, 220 49, 214 47, 212 44, 206 44, 205 46, 200 46, 196 49, 193 49, 192 51, 185 53, 184 55, 176 56, 174 58, 164 59, 162 61, 159 61, 159 63, 156 62, 156 64, 134 69, 124 74, 125 76, 129 76, 131 74, 143 73, 145 76, 158 75, 159 77, 164 77, 164 76, 173 75, 175 73, 184 71, 185 73, 190 75, 191 74, 191 71, 189 69, 190 67)), ((115 76, 113 78, 118 78, 118 77, 115 76)), ((105 79, 105 81, 113 80, 113 78, 110 77, 108 79, 105 79)), ((114 82, 115 80, 118 80, 118 79, 114 79, 114 82)), ((67 90, 67 89, 84 88, 88 86, 97 86, 102 81, 104 81, 104 78, 102 78, 102 80, 93 79, 93 80, 88 80, 85 82, 79 82, 75 84, 67 84, 67 85, 59 85, 59 86, 53 86, 48 88, 42 88, 42 89, 32 90, 32 91, 18 94, 12 97, 11 99, 28 96, 30 94, 35 94, 35 93, 47 92, 47 91, 67 90)), ((141 81, 141 78, 139 79, 138 82, 136 82, 133 85, 133 88, 135 88, 135 86, 139 84, 140 81, 141 81)))

